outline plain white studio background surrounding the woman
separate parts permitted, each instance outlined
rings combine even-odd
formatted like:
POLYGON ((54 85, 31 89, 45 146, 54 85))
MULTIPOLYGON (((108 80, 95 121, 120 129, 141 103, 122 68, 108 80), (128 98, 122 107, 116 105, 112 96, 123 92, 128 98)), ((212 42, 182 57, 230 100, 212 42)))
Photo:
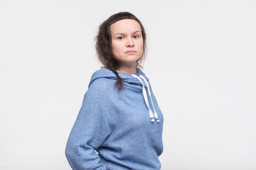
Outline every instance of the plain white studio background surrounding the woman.
POLYGON ((0 0, 0 170, 71 170, 94 37, 119 11, 148 35, 162 170, 256 170, 255 0, 0 0))

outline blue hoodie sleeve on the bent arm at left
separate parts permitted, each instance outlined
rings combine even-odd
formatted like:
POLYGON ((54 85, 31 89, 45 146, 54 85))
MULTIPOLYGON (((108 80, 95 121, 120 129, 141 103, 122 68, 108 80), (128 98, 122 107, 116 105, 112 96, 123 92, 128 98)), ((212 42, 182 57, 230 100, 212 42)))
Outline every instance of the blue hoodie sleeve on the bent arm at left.
POLYGON ((111 118, 115 119, 115 115, 107 88, 107 84, 95 81, 85 93, 65 150, 73 170, 106 170, 95 150, 115 128, 114 122, 111 121, 111 118))

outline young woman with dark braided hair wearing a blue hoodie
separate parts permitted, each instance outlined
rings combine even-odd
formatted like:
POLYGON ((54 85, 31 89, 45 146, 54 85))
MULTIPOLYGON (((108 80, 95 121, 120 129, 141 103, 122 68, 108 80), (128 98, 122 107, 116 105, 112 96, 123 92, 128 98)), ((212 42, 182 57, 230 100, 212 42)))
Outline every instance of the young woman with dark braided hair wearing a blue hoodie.
POLYGON ((160 170, 163 115, 141 71, 146 33, 128 12, 99 26, 90 80, 65 154, 73 170, 160 170))

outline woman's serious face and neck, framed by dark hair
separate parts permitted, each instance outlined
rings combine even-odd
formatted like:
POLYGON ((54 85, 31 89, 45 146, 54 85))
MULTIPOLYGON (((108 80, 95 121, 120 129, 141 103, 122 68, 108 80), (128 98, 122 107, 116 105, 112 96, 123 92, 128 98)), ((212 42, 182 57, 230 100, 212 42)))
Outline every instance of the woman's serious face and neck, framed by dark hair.
POLYGON ((124 19, 110 25, 112 52, 121 67, 136 68, 137 60, 143 55, 143 37, 139 23, 124 19))

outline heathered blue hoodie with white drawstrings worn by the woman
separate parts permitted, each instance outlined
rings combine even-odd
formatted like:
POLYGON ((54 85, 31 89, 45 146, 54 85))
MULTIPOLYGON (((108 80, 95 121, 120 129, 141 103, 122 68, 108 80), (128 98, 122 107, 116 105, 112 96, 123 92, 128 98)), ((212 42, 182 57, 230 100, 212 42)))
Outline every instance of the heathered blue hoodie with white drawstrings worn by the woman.
POLYGON ((91 78, 67 140, 65 154, 73 170, 160 170, 163 115, 148 78, 106 68, 91 78))

